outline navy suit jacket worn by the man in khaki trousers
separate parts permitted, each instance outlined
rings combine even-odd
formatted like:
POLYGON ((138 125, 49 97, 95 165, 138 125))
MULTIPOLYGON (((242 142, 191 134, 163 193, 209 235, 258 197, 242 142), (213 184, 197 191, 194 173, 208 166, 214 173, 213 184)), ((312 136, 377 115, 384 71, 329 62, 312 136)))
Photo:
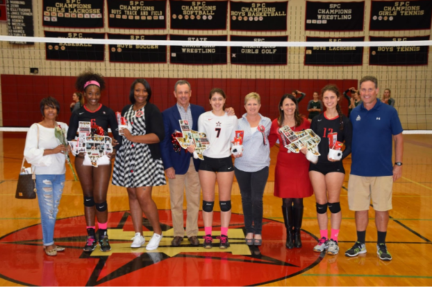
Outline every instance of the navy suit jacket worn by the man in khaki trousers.
MULTIPOLYGON (((193 125, 191 128, 198 131, 198 118, 205 112, 205 110, 201 106, 191 104, 190 112, 193 119, 193 125)), ((160 142, 160 151, 162 152, 164 169, 166 170, 172 167, 176 170, 176 174, 186 174, 189 169, 190 157, 192 154, 189 152, 185 153, 183 148, 180 153, 175 152, 171 143, 171 135, 174 133, 174 130, 181 131, 180 123, 178 123, 178 120, 181 120, 181 116, 180 112, 178 112, 177 104, 163 111, 162 116, 163 125, 165 127, 165 138, 160 142)), ((197 171, 200 161, 201 160, 199 159, 194 159, 195 170, 197 171)))

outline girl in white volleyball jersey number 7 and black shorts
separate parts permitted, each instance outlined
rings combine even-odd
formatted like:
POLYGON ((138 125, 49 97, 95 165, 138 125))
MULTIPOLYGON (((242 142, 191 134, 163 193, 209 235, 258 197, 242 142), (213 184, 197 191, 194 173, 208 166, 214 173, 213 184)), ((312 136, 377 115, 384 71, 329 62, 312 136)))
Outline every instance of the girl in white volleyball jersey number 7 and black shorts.
MULTIPOLYGON (((236 116, 225 113, 225 92, 214 88, 210 91, 212 111, 201 114, 198 131, 207 134, 210 148, 203 152, 204 160, 199 166, 199 181, 203 190, 203 222, 206 236, 204 248, 212 248, 213 206, 215 204, 215 184, 219 186, 219 205, 221 210, 221 235, 219 248, 229 247, 228 226, 231 219, 231 188, 233 186, 234 167, 231 160, 231 141, 234 140, 238 127, 236 116)), ((194 146, 188 148, 194 152, 194 146)))

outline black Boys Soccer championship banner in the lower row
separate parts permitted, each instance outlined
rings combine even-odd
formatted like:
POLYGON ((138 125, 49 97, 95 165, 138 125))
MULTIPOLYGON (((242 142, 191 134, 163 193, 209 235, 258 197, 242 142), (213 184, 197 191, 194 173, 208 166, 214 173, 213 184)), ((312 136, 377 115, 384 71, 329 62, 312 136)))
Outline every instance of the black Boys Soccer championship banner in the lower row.
MULTIPOLYGON (((166 40, 167 35, 120 35, 108 33, 108 39, 166 40)), ((110 62, 167 63, 167 46, 110 44, 109 49, 110 62)))

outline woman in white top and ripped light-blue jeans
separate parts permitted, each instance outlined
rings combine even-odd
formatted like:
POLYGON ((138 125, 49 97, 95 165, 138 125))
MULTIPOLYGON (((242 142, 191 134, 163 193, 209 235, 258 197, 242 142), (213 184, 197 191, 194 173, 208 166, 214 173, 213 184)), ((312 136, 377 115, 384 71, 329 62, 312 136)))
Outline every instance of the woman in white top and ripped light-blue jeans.
POLYGON ((31 125, 28 130, 24 156, 36 174, 44 251, 49 256, 55 256, 58 251, 65 250, 54 244, 54 225, 65 186, 67 147, 58 145, 54 131, 60 126, 67 132, 68 127, 65 123, 56 122, 60 105, 55 98, 42 99, 40 111, 42 121, 31 125))

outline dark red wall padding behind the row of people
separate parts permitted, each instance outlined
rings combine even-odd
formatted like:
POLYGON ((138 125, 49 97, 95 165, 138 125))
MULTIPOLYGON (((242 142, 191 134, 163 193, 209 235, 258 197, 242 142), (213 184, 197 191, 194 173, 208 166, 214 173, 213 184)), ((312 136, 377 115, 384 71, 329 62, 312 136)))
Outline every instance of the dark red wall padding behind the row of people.
MULTIPOLYGON (((29 127, 40 122, 40 100, 44 97, 54 97, 60 102, 58 120, 69 123, 72 94, 75 92, 76 78, 69 76, 38 76, 38 75, 1 75, 1 100, 3 107, 4 127, 29 127)), ((135 78, 106 77, 106 90, 102 92, 100 102, 113 109, 122 111, 129 104, 128 95, 131 83, 135 78)), ((152 90, 150 102, 158 106, 160 111, 176 103, 174 84, 178 79, 147 78, 152 90)), ((245 113, 244 96, 257 92, 261 96, 260 114, 274 119, 279 114, 279 100, 284 93, 298 89, 306 93, 306 98, 300 102, 299 109, 308 116, 306 107, 313 99, 313 92, 319 92, 326 84, 338 85, 341 98, 340 105, 344 114, 348 111, 348 101, 342 92, 350 87, 357 87, 357 80, 308 80, 308 79, 208 79, 194 78, 188 80, 192 87, 190 102, 210 110, 208 93, 214 87, 224 89, 226 107, 234 107, 238 117, 245 113)))

